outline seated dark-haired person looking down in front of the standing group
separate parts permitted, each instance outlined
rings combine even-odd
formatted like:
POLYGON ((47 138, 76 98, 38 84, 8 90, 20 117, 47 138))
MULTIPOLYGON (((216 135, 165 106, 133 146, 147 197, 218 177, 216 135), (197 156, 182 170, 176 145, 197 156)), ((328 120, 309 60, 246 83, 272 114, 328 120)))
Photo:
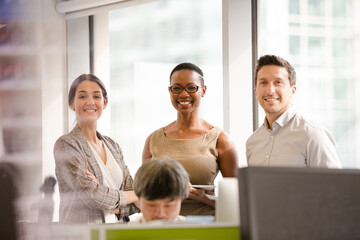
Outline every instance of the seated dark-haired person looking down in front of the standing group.
POLYGON ((185 221, 181 202, 189 195, 189 176, 172 159, 152 159, 143 163, 135 175, 134 191, 142 215, 130 223, 185 221))

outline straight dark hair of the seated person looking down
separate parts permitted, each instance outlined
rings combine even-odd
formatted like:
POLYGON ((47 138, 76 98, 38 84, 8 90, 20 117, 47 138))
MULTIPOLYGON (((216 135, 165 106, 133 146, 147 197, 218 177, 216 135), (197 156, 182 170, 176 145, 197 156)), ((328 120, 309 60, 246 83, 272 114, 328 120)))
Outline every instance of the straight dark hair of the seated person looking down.
POLYGON ((175 160, 149 159, 136 172, 134 191, 138 197, 149 201, 185 199, 189 195, 189 176, 175 160))

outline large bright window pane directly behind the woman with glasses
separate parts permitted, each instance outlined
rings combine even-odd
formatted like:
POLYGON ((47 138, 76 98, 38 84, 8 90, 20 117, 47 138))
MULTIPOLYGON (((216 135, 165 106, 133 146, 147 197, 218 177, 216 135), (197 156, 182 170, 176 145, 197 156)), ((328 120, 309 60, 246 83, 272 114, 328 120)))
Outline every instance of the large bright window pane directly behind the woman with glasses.
POLYGON ((110 11, 111 136, 133 176, 146 137, 176 119, 167 87, 178 63, 202 68, 208 91, 201 115, 223 125, 221 4, 161 0, 110 11))

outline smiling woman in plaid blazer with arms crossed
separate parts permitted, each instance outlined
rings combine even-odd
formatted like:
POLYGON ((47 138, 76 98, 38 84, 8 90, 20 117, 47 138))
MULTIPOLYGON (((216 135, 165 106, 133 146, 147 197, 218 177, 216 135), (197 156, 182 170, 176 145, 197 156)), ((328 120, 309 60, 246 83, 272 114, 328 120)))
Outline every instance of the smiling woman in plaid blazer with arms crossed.
POLYGON ((121 148, 97 129, 108 103, 104 84, 82 74, 71 84, 69 107, 76 126, 54 146, 61 223, 114 223, 139 212, 121 148))

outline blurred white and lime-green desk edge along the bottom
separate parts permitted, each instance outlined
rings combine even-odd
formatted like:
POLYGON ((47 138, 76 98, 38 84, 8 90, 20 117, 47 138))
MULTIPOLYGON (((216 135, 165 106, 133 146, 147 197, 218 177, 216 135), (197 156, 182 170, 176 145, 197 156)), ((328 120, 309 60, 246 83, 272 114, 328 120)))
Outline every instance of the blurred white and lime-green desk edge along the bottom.
POLYGON ((171 224, 48 224, 22 223, 22 239, 37 240, 240 240, 240 228, 231 223, 171 224))

